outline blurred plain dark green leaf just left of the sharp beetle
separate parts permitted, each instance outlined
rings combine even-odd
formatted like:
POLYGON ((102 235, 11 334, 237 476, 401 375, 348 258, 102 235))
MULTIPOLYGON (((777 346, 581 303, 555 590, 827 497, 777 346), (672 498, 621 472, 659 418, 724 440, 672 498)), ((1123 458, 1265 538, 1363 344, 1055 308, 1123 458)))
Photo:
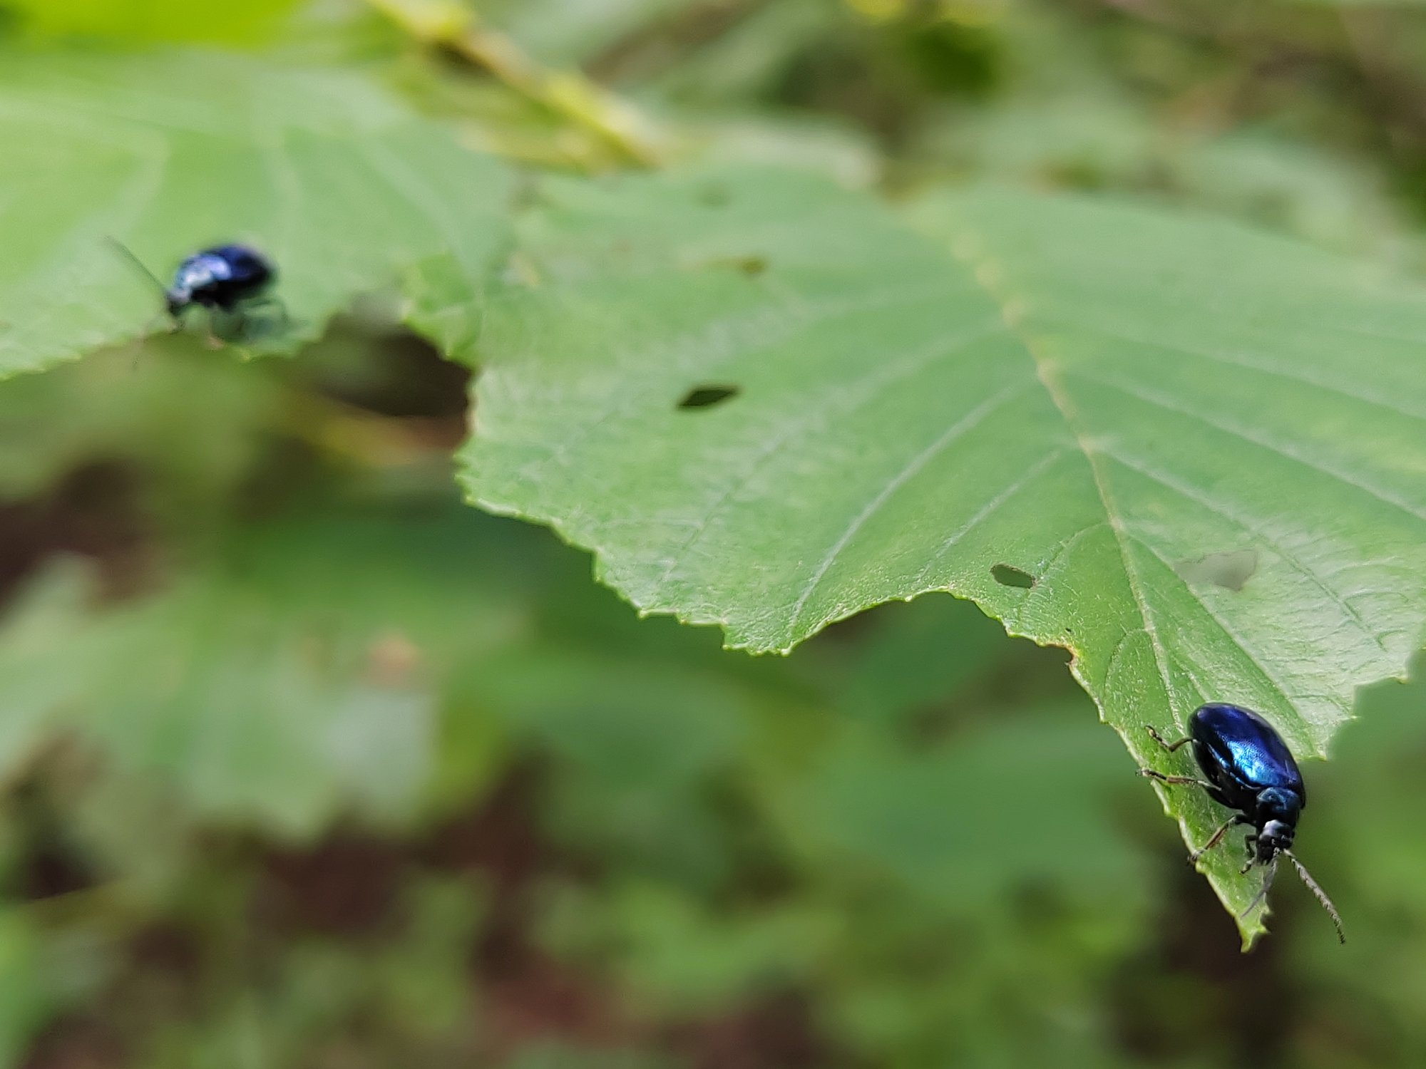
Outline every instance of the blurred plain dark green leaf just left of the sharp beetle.
POLYGON ((797 797, 800 838, 841 864, 974 912, 1004 895, 1145 898, 1112 828, 1124 764, 1074 706, 967 728, 911 753, 848 733, 797 797))

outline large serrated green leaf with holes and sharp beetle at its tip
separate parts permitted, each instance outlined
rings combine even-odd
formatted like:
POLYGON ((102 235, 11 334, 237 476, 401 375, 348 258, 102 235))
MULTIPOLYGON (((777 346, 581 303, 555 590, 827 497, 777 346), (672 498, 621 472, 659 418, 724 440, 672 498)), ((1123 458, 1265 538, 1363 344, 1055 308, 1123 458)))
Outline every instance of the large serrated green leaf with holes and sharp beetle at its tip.
MULTIPOLYGON (((776 171, 552 185, 522 257, 462 479, 645 613, 786 651, 971 597, 1071 649, 1138 763, 1176 773, 1145 725, 1232 700, 1323 754, 1420 639, 1426 301, 1350 262, 1011 192, 913 228, 776 171)), ((1162 794, 1191 844, 1224 817, 1162 794)), ((1204 862, 1233 912, 1239 852, 1204 862)))

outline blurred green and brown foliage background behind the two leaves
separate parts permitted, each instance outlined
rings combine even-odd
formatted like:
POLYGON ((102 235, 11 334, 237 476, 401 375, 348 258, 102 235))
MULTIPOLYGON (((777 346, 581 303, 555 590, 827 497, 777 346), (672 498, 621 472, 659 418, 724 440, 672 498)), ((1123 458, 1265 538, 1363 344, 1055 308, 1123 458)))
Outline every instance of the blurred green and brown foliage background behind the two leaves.
MULTIPOLYGON (((525 77, 560 71, 670 158, 1426 262, 1422 7, 479 4, 513 67, 257 9, 530 170, 642 151, 525 77)), ((1062 651, 938 596, 784 660, 639 620, 461 505, 468 375, 376 295, 292 361, 165 338, 0 385, 0 1066, 1426 1063, 1426 688, 1306 767, 1350 942, 1285 879, 1241 955, 1062 651)))

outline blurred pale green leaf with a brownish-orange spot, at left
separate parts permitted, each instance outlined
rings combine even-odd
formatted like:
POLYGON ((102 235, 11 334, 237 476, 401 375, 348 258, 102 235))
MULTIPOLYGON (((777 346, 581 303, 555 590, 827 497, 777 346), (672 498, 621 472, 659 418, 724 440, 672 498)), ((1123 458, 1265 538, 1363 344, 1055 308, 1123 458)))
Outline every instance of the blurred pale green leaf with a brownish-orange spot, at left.
POLYGON ((509 640, 476 527, 354 515, 250 530, 160 594, 87 613, 56 573, 0 636, 0 754, 78 728, 198 812, 292 835, 421 800, 438 683, 509 640))

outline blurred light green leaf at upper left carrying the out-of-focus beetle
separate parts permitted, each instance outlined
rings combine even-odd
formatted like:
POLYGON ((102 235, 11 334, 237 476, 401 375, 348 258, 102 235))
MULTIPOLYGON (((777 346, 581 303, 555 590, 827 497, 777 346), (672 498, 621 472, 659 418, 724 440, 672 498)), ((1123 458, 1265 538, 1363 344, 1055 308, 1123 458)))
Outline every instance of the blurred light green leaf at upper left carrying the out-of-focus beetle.
MULTIPOLYGON (((212 242, 278 265, 289 351, 439 262, 473 279, 508 175, 368 81, 224 53, 7 56, 0 73, 0 378, 155 329, 151 279, 212 242)), ((197 318, 197 316, 195 316, 197 318)))

